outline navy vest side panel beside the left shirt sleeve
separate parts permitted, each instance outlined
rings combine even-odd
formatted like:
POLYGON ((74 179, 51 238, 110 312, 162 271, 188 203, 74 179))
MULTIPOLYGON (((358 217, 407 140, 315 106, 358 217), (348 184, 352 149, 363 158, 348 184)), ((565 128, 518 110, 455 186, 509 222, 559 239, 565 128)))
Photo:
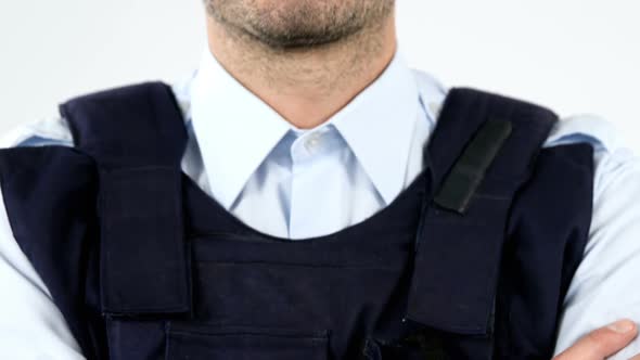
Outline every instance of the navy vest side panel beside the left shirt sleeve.
POLYGON ((104 329, 95 311, 98 236, 93 160, 63 146, 0 150, 2 188, 13 235, 49 288, 84 355, 101 358, 104 329))

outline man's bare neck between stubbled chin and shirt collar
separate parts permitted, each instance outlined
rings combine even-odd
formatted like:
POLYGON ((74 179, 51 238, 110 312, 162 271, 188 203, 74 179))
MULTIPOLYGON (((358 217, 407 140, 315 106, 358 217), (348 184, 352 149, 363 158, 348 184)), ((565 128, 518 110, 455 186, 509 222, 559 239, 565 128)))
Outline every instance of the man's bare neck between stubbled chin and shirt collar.
POLYGON ((310 129, 373 82, 396 52, 394 16, 384 25, 312 49, 278 50, 207 17, 209 50, 245 88, 284 119, 310 129))

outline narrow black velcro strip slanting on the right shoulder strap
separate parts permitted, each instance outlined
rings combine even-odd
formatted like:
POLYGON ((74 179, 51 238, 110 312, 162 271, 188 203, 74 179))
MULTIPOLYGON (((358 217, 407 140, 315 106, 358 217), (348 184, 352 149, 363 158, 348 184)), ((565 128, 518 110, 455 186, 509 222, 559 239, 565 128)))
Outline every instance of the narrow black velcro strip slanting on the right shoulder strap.
POLYGON ((434 202, 446 209, 464 214, 512 129, 510 121, 485 123, 451 169, 434 202))

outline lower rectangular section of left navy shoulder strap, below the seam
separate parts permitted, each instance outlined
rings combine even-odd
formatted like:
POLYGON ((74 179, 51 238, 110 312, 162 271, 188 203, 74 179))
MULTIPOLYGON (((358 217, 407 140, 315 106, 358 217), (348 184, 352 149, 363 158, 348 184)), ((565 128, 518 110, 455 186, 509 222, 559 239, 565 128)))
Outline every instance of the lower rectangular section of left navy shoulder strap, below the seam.
POLYGON ((189 310, 181 173, 174 167, 101 173, 102 306, 107 313, 189 310))

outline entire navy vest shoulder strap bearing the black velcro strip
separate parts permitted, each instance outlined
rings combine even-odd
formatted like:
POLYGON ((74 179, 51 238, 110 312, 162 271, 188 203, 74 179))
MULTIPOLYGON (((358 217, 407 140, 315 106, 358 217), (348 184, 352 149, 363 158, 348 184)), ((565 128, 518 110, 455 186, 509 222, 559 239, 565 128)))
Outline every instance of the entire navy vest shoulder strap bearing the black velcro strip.
POLYGON ((452 89, 425 149, 432 177, 407 318, 487 335, 511 203, 558 117, 543 107, 452 89))

